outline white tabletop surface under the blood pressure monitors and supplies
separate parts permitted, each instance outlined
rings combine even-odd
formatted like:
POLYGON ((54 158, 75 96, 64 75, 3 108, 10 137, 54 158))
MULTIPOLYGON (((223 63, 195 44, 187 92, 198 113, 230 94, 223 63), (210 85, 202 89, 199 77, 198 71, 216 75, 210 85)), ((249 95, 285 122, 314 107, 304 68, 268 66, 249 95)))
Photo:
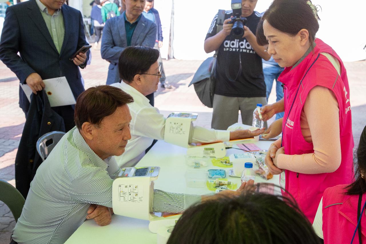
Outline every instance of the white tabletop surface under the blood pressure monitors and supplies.
MULTIPOLYGON (((248 142, 249 143, 249 142, 248 142)), ((270 141, 258 141, 255 144, 261 149, 268 149, 270 141)), ((234 145, 235 147, 235 145, 234 145)), ((226 156, 233 153, 241 153, 237 149, 228 149, 226 156)), ((213 194, 207 187, 193 188, 186 186, 185 173, 187 171, 205 171, 208 169, 228 169, 212 166, 210 159, 207 160, 208 166, 193 169, 186 164, 187 149, 176 145, 157 141, 150 151, 136 165, 141 166, 160 166, 158 179, 155 181, 154 188, 168 192, 190 193, 190 194, 213 194)), ((229 181, 240 186, 240 177, 227 177, 229 181)), ((258 175, 255 182, 271 182, 279 184, 279 175, 275 175, 271 180, 264 180, 258 175)), ((66 244, 100 244, 100 243, 157 243, 157 236, 148 229, 149 221, 127 218, 119 215, 112 215, 112 223, 107 226, 98 226, 92 219, 86 220, 72 236, 66 241, 66 244)))

